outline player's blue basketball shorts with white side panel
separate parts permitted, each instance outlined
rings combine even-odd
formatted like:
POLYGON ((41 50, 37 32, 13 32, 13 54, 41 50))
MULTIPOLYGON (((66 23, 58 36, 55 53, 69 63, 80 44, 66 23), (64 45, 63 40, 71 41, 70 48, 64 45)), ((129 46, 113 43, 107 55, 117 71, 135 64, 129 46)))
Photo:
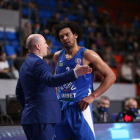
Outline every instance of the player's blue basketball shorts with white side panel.
POLYGON ((92 105, 81 111, 70 106, 61 112, 61 123, 54 126, 53 140, 95 140, 92 105))

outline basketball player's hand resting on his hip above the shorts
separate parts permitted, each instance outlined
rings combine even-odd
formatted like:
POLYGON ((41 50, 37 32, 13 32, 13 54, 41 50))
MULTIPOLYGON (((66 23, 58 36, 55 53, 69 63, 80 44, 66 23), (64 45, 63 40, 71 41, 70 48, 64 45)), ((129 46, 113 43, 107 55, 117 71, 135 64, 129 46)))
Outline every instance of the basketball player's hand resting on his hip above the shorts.
POLYGON ((91 95, 83 98, 79 103, 79 107, 81 109, 81 111, 84 111, 93 101, 95 100, 95 98, 91 95))

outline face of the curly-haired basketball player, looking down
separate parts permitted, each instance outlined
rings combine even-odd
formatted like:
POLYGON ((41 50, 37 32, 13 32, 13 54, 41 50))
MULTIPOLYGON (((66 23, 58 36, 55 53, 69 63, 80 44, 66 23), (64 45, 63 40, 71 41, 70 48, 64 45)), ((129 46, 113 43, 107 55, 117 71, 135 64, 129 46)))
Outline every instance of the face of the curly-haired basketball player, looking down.
POLYGON ((62 45, 67 49, 70 49, 75 44, 77 44, 77 37, 77 34, 73 34, 70 28, 64 28, 59 31, 60 41, 62 45))

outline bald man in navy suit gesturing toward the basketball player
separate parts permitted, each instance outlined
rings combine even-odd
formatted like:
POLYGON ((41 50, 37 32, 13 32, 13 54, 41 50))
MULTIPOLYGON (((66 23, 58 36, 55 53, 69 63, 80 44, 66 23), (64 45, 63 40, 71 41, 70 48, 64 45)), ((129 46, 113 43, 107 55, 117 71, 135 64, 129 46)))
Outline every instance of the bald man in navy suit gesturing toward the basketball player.
POLYGON ((16 96, 23 107, 21 125, 27 140, 51 140, 53 126, 61 117, 55 87, 91 73, 92 69, 78 62, 74 69, 53 75, 43 60, 49 47, 45 38, 40 34, 30 35, 26 45, 29 55, 20 68, 16 86, 16 96))

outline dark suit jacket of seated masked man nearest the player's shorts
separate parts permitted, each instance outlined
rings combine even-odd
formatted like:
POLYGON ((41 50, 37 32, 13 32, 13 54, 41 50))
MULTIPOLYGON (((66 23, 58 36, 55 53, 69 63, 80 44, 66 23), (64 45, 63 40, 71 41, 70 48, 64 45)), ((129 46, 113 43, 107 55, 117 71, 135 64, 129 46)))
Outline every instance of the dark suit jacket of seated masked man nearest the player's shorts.
MULTIPOLYGON (((94 122, 104 122, 103 118, 101 118, 101 114, 98 108, 93 109, 93 118, 94 122)), ((109 112, 107 112, 107 122, 114 122, 114 119, 109 112)))

